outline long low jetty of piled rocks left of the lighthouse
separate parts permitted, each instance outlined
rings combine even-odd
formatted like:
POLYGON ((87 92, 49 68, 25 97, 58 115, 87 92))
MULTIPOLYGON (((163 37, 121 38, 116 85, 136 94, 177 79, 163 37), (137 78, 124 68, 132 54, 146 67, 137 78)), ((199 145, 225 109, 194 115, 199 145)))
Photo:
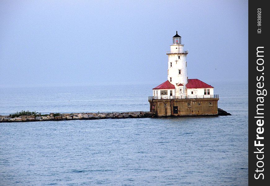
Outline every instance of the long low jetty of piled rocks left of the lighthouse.
POLYGON ((0 122, 37 122, 37 121, 60 121, 60 120, 89 120, 89 119, 121 119, 121 118, 146 118, 154 117, 151 112, 124 112, 124 113, 71 113, 48 115, 31 115, 11 118, 9 116, 0 116, 0 122))

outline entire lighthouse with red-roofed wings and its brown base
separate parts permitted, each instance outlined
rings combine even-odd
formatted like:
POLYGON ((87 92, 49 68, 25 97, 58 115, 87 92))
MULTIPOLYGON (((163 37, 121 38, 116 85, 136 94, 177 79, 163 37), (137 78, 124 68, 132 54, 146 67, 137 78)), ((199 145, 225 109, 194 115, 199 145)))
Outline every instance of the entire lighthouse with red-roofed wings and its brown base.
POLYGON ((199 80, 189 79, 187 54, 178 31, 173 36, 168 55, 167 80, 153 88, 149 96, 150 111, 156 116, 217 115, 218 95, 214 87, 199 80))

